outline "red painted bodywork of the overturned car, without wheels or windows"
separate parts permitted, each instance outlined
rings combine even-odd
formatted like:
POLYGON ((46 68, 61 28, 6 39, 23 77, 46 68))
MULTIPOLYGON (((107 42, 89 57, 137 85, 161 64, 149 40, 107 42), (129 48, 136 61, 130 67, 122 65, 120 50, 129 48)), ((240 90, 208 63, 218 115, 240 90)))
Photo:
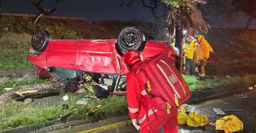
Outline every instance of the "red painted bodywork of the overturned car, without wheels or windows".
MULTIPOLYGON (((168 56, 169 53, 175 53, 175 50, 164 42, 147 41, 141 58, 147 59, 157 53, 166 53, 168 56)), ((129 73, 124 59, 116 52, 115 40, 51 40, 44 52, 29 55, 28 60, 43 69, 61 67, 91 73, 118 74, 119 62, 116 58, 120 60, 120 74, 129 73)))

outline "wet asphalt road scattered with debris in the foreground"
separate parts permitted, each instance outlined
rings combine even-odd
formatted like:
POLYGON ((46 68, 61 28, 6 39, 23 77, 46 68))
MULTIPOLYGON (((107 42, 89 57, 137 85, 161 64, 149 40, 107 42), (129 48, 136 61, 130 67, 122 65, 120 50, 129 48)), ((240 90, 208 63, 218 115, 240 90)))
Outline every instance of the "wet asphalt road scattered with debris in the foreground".
MULTIPOLYGON (((216 99, 212 101, 205 101, 201 103, 190 103, 194 110, 203 115, 207 115, 210 122, 216 122, 217 119, 223 117, 223 115, 216 115, 213 108, 221 108, 226 115, 236 115, 244 123, 244 130, 237 133, 256 133, 256 92, 244 93, 249 96, 248 99, 237 99, 234 96, 225 97, 222 99, 216 99), (243 111, 232 111, 227 112, 225 110, 242 109, 243 111)), ((113 123, 124 122, 127 116, 118 116, 116 118, 110 118, 108 120, 102 120, 97 123, 91 123, 90 125, 77 125, 77 127, 72 127, 72 129, 61 129, 54 132, 83 132, 89 129, 101 128, 99 133, 136 133, 136 129, 131 126, 131 123, 120 125, 118 127, 102 127, 104 125, 110 125, 113 123)), ((160 130, 160 132, 163 132, 160 130)), ((204 127, 188 127, 180 126, 180 133, 212 133, 212 132, 223 132, 220 130, 215 130, 215 127, 204 126, 204 127)))

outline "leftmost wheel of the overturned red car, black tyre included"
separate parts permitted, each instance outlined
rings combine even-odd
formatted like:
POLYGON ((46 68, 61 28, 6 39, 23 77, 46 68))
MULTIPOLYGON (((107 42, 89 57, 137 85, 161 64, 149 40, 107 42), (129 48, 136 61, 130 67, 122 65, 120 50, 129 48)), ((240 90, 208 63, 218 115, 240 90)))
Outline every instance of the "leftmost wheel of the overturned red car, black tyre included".
POLYGON ((37 52, 44 52, 49 40, 51 40, 51 35, 49 32, 45 30, 35 32, 31 39, 32 48, 37 52))

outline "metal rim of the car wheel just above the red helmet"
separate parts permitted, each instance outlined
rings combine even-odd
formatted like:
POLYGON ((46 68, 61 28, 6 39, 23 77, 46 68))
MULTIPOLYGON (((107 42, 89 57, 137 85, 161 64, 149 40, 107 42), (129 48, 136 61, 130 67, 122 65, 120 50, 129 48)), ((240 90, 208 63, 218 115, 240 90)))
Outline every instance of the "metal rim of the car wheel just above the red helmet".
POLYGON ((127 31, 122 36, 122 44, 128 48, 132 49, 136 46, 136 43, 138 43, 138 35, 134 32, 127 31))

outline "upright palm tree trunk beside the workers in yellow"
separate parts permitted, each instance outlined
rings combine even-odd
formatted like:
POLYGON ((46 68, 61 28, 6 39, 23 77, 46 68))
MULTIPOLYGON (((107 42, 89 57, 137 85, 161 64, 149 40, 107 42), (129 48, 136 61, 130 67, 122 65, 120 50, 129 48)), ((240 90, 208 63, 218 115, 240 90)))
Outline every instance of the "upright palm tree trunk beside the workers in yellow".
POLYGON ((179 49, 179 60, 177 64, 177 69, 182 73, 182 49, 183 49, 183 28, 180 24, 176 25, 175 29, 175 46, 179 49))

